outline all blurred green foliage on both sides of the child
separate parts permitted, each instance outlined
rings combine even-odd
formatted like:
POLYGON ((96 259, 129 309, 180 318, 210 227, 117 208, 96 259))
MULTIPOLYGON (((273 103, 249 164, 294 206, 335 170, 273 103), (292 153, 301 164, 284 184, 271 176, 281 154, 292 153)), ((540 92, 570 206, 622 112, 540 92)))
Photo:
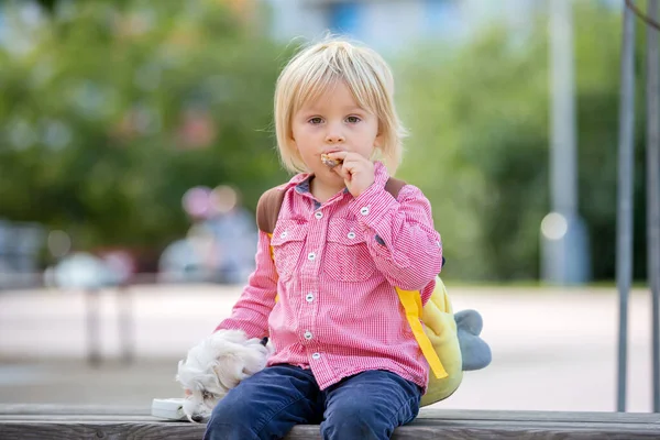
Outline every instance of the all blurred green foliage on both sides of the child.
MULTIPOLYGON (((254 207, 286 178, 272 133, 288 50, 222 2, 45 2, 26 51, 0 48, 0 217, 77 248, 156 252, 185 233, 183 194, 230 183, 254 207)), ((614 277, 620 18, 575 3, 579 202, 596 279, 614 277)), ((11 21, 11 13, 7 21, 11 21)), ((411 131, 399 176, 433 206, 446 276, 534 279, 549 206, 547 19, 395 63, 411 131)), ((641 29, 639 26, 638 29, 641 29)), ((644 32, 638 32, 635 255, 646 265, 644 32)))

